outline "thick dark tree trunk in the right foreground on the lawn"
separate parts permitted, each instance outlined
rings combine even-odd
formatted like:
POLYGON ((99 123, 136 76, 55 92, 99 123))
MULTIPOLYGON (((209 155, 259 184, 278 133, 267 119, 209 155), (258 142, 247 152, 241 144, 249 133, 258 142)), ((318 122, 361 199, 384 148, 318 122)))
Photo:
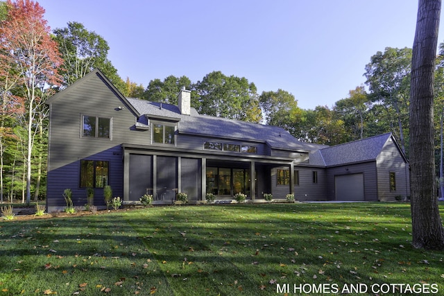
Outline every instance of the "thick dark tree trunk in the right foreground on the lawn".
POLYGON ((413 247, 444 249, 436 200, 434 67, 441 0, 419 0, 410 95, 411 225, 413 247))

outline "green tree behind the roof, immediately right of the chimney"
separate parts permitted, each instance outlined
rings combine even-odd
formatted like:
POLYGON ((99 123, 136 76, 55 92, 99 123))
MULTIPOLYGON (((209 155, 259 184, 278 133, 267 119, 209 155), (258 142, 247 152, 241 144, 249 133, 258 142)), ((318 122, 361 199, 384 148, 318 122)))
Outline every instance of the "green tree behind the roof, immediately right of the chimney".
POLYGON ((256 123, 262 119, 256 86, 244 77, 213 71, 198 81, 195 89, 201 114, 256 123))

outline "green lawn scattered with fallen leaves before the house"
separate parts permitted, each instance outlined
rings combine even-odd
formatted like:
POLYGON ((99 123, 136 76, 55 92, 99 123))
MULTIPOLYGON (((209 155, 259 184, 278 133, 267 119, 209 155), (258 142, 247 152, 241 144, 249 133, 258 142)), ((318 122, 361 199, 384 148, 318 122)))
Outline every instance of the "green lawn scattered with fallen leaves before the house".
POLYGON ((416 292, 444 295, 444 253, 413 249, 410 232, 403 203, 148 207, 2 220, 0 296, 294 295, 295 286, 310 295, 319 286, 393 295, 414 284, 416 292))

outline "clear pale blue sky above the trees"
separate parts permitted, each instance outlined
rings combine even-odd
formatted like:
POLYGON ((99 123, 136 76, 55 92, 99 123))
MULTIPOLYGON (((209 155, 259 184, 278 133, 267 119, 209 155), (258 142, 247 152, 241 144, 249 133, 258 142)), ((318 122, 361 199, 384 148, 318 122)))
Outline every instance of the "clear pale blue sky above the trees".
MULTIPOLYGON (((364 85, 386 47, 413 46, 417 0, 37 0, 51 29, 82 23, 108 42, 123 80, 212 71, 258 94, 283 89, 303 109, 333 107, 364 85)), ((443 9, 444 10, 444 9, 443 9)), ((444 42, 444 17, 438 44, 444 42)))

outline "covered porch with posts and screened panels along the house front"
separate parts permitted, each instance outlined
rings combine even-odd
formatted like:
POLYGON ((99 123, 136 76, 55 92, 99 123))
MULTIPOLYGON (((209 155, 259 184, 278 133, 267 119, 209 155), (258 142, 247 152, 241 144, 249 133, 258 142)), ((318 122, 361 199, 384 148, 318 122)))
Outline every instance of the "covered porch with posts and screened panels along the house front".
MULTIPOLYGON (((206 193, 217 201, 231 201, 239 192, 262 200, 263 193, 273 193, 273 168, 282 166, 293 172, 293 159, 123 145, 123 202, 137 204, 152 194, 153 204, 171 204, 178 192, 187 193, 190 203, 205 202, 206 193)), ((294 193, 290 180, 288 193, 294 193)))

